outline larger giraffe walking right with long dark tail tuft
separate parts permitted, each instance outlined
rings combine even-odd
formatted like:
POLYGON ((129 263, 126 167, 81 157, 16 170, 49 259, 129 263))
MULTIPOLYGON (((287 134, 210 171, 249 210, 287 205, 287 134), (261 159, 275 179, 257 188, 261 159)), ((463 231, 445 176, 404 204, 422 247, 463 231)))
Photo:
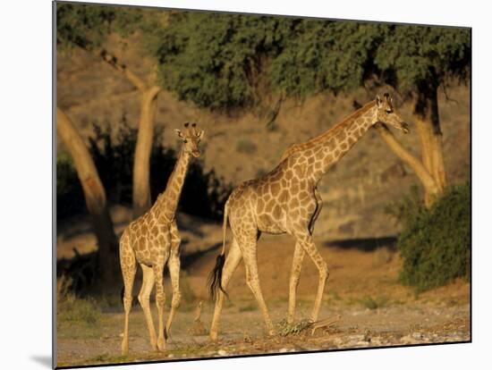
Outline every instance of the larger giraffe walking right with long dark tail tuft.
POLYGON ((246 267, 246 282, 258 302, 267 332, 270 335, 274 333, 259 286, 256 247, 261 232, 286 232, 296 240, 289 284, 289 323, 293 323, 295 295, 304 255, 307 253, 318 267, 318 291, 310 316, 312 321, 318 319, 328 277, 327 264, 312 239, 314 223, 322 206, 318 182, 377 122, 390 124, 405 133, 409 131, 407 124, 394 111, 391 97, 385 94, 384 100, 377 97, 317 138, 289 147, 282 162, 273 171, 259 179, 245 181, 233 190, 225 203, 222 252, 217 256, 216 266, 210 274, 210 295, 216 299, 210 328, 211 340, 217 338, 225 288, 241 259, 246 267), (233 243, 225 260, 227 217, 233 231, 233 243))

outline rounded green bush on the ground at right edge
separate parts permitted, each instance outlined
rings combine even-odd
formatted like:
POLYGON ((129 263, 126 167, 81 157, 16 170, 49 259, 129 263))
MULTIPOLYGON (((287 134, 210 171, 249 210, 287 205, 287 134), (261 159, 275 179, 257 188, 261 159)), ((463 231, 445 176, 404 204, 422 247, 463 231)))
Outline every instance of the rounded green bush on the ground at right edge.
POLYGON ((404 284, 423 291, 458 277, 470 279, 470 192, 467 182, 447 189, 430 209, 415 195, 400 206, 403 231, 397 245, 404 284))

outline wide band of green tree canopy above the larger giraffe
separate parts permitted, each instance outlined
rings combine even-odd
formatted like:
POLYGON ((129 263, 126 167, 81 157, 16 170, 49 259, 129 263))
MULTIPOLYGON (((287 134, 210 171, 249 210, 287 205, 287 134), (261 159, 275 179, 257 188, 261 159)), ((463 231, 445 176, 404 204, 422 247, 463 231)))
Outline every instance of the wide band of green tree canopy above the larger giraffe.
POLYGON ((267 93, 350 91, 367 80, 403 92, 428 79, 438 86, 467 78, 471 58, 469 29, 182 12, 159 32, 153 51, 165 88, 212 109, 257 105, 267 93))

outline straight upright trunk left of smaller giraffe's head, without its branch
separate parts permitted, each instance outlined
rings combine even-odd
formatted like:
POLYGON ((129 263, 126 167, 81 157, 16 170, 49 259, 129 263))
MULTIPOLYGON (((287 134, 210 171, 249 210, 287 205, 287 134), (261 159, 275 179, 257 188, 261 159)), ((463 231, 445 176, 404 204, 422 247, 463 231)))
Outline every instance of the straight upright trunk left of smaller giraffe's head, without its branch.
POLYGON ((140 103, 139 133, 133 161, 133 219, 150 207, 150 152, 154 138, 154 119, 157 110, 159 87, 142 93, 140 103))

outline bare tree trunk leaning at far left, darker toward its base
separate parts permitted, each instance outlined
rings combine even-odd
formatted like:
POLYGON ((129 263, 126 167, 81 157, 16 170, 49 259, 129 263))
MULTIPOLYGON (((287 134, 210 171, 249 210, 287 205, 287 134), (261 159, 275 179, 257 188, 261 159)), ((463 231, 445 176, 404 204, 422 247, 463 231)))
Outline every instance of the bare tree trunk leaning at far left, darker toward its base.
POLYGON ((86 206, 92 219, 92 227, 98 240, 100 276, 104 281, 110 281, 116 272, 115 266, 119 266, 117 262, 118 240, 106 204, 106 191, 81 135, 60 108, 56 108, 56 131, 72 156, 75 170, 81 181, 86 206))

